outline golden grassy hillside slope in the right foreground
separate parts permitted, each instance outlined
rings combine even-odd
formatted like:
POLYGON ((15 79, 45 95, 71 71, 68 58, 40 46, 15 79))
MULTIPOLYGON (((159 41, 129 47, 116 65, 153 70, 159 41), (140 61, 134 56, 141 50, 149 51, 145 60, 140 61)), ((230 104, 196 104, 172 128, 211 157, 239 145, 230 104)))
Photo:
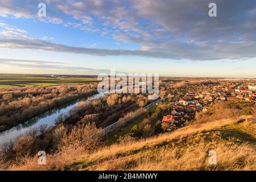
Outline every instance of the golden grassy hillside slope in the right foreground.
POLYGON ((256 123, 224 119, 83 156, 65 170, 255 170, 256 123), (217 165, 208 152, 217 152, 217 165))

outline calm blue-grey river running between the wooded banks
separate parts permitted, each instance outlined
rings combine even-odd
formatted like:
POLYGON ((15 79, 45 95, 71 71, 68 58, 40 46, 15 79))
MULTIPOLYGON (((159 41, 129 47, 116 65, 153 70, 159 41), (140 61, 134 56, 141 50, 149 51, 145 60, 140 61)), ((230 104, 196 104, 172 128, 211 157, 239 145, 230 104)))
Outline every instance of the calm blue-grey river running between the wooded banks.
POLYGON ((84 99, 71 102, 68 105, 65 105, 63 107, 53 109, 51 111, 48 111, 47 113, 40 114, 35 118, 29 119, 26 122, 21 123, 20 125, 17 125, 15 127, 12 127, 9 130, 3 131, 0 133, 0 146, 2 146, 5 142, 10 142, 10 140, 15 140, 20 135, 24 135, 29 131, 30 129, 34 127, 39 127, 40 125, 47 124, 47 126, 53 126, 55 123, 55 119, 61 114, 61 113, 67 113, 69 110, 71 110, 73 107, 75 107, 79 102, 81 101, 90 101, 97 98, 100 98, 104 96, 104 93, 98 93, 94 94, 93 96, 86 97, 84 99))

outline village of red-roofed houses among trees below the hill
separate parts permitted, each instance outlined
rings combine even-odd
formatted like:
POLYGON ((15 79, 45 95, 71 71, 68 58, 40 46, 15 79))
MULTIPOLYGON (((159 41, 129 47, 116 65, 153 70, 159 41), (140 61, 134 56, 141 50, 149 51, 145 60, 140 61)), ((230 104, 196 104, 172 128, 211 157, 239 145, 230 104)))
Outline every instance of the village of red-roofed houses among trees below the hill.
POLYGON ((171 107, 164 113, 162 123, 172 131, 193 121, 197 114, 207 113, 216 102, 256 102, 254 82, 218 82, 183 86, 168 94, 171 107))

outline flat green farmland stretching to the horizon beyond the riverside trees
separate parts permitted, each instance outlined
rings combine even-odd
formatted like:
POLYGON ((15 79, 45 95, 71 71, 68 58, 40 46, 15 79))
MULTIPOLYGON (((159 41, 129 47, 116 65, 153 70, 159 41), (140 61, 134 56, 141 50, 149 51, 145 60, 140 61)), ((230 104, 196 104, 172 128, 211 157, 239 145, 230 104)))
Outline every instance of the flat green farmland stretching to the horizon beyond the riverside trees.
POLYGON ((0 89, 15 86, 50 86, 97 81, 96 76, 0 75, 0 89))

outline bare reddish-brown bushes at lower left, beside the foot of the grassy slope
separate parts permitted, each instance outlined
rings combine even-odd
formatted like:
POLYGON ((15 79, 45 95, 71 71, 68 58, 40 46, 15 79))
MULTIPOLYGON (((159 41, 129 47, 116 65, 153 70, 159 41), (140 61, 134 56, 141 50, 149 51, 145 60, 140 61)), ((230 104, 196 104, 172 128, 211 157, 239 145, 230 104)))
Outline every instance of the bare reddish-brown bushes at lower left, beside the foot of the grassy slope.
MULTIPOLYGON (((60 126, 60 129, 62 127, 60 126)), ((10 170, 55 170, 63 167, 65 164, 73 162, 82 155, 89 155, 97 150, 101 145, 99 133, 101 129, 97 129, 95 123, 88 123, 80 127, 73 127, 69 134, 64 133, 59 138, 57 144, 57 154, 47 155, 46 165, 38 164, 38 156, 34 158, 31 155, 18 156, 15 159, 10 170), (92 139, 92 134, 95 134, 92 139)), ((61 130, 57 130, 56 135, 60 135, 61 130)), ((58 137, 56 137, 58 138, 58 137)), ((1 162, 1 161, 0 161, 1 162)))

